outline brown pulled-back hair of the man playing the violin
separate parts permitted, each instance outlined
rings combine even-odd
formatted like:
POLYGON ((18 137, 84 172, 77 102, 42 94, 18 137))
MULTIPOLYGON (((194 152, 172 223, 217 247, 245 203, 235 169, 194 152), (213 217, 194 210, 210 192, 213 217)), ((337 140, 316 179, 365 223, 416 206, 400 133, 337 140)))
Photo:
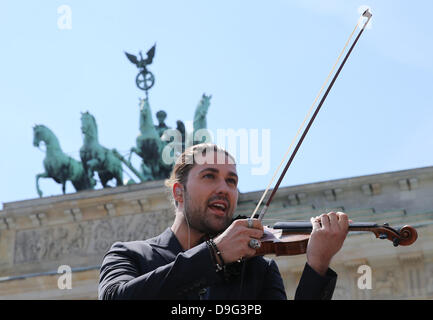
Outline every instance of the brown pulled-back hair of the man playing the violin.
MULTIPOLYGON (((194 146, 191 146, 185 150, 176 160, 173 170, 171 171, 170 177, 165 180, 165 185, 169 189, 169 193, 171 195, 171 191, 175 183, 180 183, 184 190, 186 190, 186 183, 188 181, 188 174, 191 169, 197 164, 201 163, 206 155, 209 154, 224 154, 224 159, 220 159, 217 157, 217 163, 229 163, 235 164, 235 159, 233 156, 226 151, 225 149, 217 146, 213 143, 200 143, 194 146), (228 158, 228 162, 226 162, 226 158, 228 158), (221 162, 223 161, 223 162, 221 162)), ((208 159, 208 158, 206 158, 208 159)), ((208 159, 214 161, 214 158, 208 159)), ((177 201, 174 199, 173 203, 175 207, 177 207, 177 201)))

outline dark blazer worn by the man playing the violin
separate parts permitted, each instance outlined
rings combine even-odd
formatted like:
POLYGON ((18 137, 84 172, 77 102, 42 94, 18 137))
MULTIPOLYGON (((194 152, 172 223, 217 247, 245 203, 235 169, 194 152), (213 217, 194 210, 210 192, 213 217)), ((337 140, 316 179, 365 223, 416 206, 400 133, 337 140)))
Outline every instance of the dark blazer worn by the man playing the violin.
MULTIPOLYGON (((275 261, 254 257, 215 270, 206 243, 183 251, 170 228, 145 241, 116 242, 104 256, 99 299, 286 299, 275 261), (231 268, 231 269, 230 269, 231 268)), ((330 299, 337 275, 325 277, 305 265, 295 299, 330 299)))

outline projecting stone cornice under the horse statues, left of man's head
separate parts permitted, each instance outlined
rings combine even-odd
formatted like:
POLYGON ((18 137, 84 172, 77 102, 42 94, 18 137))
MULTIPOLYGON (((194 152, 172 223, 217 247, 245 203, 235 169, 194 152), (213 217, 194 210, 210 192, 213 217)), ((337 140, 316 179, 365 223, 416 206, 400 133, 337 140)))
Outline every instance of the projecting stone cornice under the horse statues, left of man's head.
POLYGON ((0 229, 28 229, 171 209, 163 181, 6 203, 0 229))

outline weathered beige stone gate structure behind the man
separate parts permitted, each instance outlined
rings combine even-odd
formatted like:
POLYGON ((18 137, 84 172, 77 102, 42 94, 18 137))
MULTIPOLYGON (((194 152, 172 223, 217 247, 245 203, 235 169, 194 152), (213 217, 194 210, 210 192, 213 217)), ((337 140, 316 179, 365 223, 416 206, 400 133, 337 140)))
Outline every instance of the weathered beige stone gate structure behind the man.
MULTIPOLYGON (((261 193, 240 194, 237 214, 249 216, 261 193)), ((407 247, 349 233, 331 263, 338 273, 334 299, 432 299, 432 195, 433 167, 286 187, 264 224, 338 210, 355 222, 411 225, 418 240, 407 247)), ((5 203, 0 299, 96 299, 111 244, 157 235, 173 219, 162 181, 5 203)), ((305 254, 275 259, 293 298, 305 254)))

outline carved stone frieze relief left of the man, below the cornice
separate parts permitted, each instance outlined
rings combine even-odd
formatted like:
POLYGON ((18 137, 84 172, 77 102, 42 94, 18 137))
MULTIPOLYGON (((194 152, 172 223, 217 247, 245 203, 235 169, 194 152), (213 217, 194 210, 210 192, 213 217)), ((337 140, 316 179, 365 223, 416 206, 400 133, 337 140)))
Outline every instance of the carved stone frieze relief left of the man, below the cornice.
POLYGON ((172 212, 158 211, 19 230, 14 264, 103 255, 116 241, 141 240, 159 234, 173 218, 172 212))

